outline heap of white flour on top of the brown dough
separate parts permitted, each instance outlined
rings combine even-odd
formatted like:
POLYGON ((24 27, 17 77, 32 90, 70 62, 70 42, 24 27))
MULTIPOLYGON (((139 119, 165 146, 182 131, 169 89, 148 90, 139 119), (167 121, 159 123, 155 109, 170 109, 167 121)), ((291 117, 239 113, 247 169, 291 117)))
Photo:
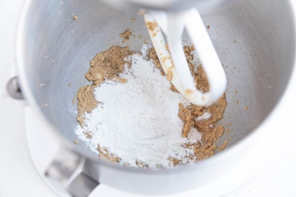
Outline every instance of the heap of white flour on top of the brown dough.
POLYGON ((129 59, 131 68, 120 74, 127 83, 107 80, 95 88, 95 97, 102 103, 84 115, 86 126, 77 126, 76 134, 96 153, 98 144, 108 148, 121 159, 120 164, 137 166, 140 161, 150 168, 169 167, 168 157, 191 162, 186 157, 193 150, 182 145, 197 142, 201 134, 192 128, 188 138, 182 137, 178 105, 185 99, 169 89, 170 82, 152 61, 138 54, 129 59), (92 131, 93 137, 86 138, 83 131, 92 131))

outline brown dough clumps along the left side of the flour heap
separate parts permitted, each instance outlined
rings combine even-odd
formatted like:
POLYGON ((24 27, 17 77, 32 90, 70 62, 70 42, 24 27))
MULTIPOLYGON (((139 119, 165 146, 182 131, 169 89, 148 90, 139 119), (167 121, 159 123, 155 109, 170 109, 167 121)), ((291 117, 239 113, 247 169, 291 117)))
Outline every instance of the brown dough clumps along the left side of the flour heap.
MULTIPOLYGON (((129 47, 111 46, 110 49, 97 53, 90 61, 90 68, 87 73, 85 73, 85 78, 88 81, 92 81, 93 84, 91 86, 81 87, 76 95, 78 100, 77 121, 80 123, 81 127, 83 127, 83 115, 85 113, 90 113, 99 103, 95 99, 94 88, 107 79, 113 79, 117 82, 124 83, 125 79, 120 78, 118 74, 123 72, 125 65, 130 66, 130 62, 128 62, 126 58, 134 53, 135 52, 130 50, 129 47)), ((84 134, 86 138, 92 137, 91 131, 87 131, 84 134)), ((107 148, 98 145, 97 149, 101 159, 111 162, 120 161, 120 158, 109 153, 107 148)))

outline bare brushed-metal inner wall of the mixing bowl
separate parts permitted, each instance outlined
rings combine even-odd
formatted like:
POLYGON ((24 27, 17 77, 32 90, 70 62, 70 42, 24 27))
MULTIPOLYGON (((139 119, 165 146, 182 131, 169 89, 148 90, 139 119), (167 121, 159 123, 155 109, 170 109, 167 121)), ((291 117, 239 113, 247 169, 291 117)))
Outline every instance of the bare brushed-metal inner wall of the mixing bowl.
MULTIPOLYGON (((294 62, 293 16, 288 0, 226 0, 202 18, 228 79, 228 106, 220 124, 230 132, 217 144, 230 138, 231 147, 284 93, 294 62)), ((149 40, 144 20, 136 10, 116 10, 98 0, 31 0, 24 22, 21 64, 30 92, 57 131, 73 142, 78 123, 72 100, 89 84, 84 78, 89 61, 111 45, 139 51, 149 40), (126 29, 136 36, 122 44, 118 35, 126 29)))

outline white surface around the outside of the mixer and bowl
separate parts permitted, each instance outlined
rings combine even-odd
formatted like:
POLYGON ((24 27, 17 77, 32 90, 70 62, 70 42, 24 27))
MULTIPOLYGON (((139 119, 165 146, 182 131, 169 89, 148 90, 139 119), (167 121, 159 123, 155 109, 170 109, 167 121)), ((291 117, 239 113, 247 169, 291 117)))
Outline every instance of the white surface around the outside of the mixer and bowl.
MULTIPOLYGON (((0 1, 0 90, 10 77, 20 2, 0 1)), ((290 90, 293 87, 296 87, 296 76, 290 90)), ((224 197, 296 196, 295 100, 296 93, 289 91, 282 108, 277 111, 278 122, 271 123, 271 128, 279 134, 265 164, 250 181, 224 197)), ((42 181, 32 163, 25 136, 23 109, 15 101, 1 98, 0 120, 0 197, 57 197, 42 181)))

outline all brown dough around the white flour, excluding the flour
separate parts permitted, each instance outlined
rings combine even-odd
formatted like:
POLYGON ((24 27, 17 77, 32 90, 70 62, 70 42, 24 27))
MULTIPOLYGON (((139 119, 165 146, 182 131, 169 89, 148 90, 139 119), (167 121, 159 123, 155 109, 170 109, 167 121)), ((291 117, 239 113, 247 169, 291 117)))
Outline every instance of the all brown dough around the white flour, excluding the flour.
MULTIPOLYGON (((126 31, 128 33, 128 31, 126 31)), ((125 34, 125 33, 124 33, 125 34)), ((124 36, 124 34, 122 36, 124 36)), ((129 34, 129 33, 128 33, 129 34)), ((191 73, 194 77, 194 81, 197 84, 197 89, 207 92, 208 91, 208 82, 206 75, 201 66, 192 65, 192 55, 190 52, 194 48, 192 46, 185 46, 184 51, 185 55, 191 70, 191 73)), ((94 88, 99 86, 106 79, 116 80, 117 82, 124 83, 125 80, 118 76, 119 73, 123 72, 124 65, 130 63, 124 59, 132 54, 134 51, 129 50, 129 47, 120 47, 112 46, 110 49, 98 53, 94 59, 90 61, 90 68, 85 74, 85 78, 93 82, 91 86, 81 87, 77 93, 78 100, 78 117, 77 121, 83 127, 83 114, 85 112, 90 113, 98 104, 98 101, 95 99, 93 94, 94 88)), ((160 62, 157 58, 154 48, 152 48, 148 57, 154 62, 154 64, 161 70, 162 75, 165 75, 160 62)), ((178 92, 175 87, 172 85, 171 89, 175 92, 178 92)), ((179 104, 179 114, 178 116, 184 122, 183 135, 180 137, 187 137, 190 128, 194 127, 197 131, 202 133, 201 142, 195 144, 185 144, 185 147, 191 147, 194 150, 194 157, 196 160, 202 160, 212 156, 217 149, 217 146, 214 142, 222 136, 224 132, 224 127, 216 126, 217 121, 222 119, 223 112, 226 107, 225 96, 222 96, 219 100, 213 103, 209 107, 200 107, 197 105, 189 105, 185 107, 182 103, 179 104), (204 112, 210 112, 212 114, 211 118, 208 120, 196 121, 195 119, 198 116, 201 116, 204 112)), ((91 137, 91 132, 85 133, 88 137, 91 137)), ((226 147, 226 143, 223 144, 222 148, 226 147), (224 147, 225 146, 225 147, 224 147)), ((100 147, 98 145, 98 151, 100 153, 100 158, 103 160, 108 160, 111 162, 119 162, 120 158, 116 155, 110 153, 107 148, 100 147)), ((191 156, 193 157, 193 156, 191 156)), ((192 158, 190 158, 192 159, 192 158)), ((180 160, 176 158, 169 158, 169 160, 174 164, 180 164, 180 160)), ((142 162, 137 162, 140 167, 148 167, 142 162)), ((127 164, 128 165, 128 164, 127 164)))

